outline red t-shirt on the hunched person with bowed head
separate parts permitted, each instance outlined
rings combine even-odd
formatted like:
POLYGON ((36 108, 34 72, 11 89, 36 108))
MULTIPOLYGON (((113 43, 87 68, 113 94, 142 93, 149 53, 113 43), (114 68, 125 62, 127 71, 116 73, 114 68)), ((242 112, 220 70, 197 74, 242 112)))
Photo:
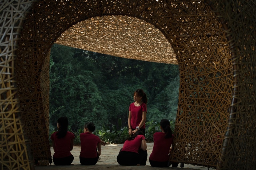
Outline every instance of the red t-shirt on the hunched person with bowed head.
POLYGON ((133 140, 126 140, 122 151, 136 152, 138 154, 143 139, 145 139, 143 135, 137 135, 133 140))

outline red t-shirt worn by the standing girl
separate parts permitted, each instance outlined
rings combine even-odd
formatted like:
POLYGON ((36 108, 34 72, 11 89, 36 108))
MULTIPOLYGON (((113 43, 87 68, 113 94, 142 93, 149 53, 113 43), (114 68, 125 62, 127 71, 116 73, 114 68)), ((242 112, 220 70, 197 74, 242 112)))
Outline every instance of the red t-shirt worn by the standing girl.
MULTIPOLYGON (((147 105, 142 103, 140 106, 135 106, 133 102, 130 104, 129 111, 131 111, 131 128, 135 129, 141 123, 142 112, 147 112, 147 105)), ((141 128, 146 128, 145 123, 141 128)))

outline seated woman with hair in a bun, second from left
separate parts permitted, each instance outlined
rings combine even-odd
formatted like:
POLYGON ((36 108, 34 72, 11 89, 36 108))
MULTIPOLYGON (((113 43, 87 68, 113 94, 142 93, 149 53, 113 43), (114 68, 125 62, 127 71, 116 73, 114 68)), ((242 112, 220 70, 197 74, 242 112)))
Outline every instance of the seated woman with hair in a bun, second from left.
POLYGON ((80 134, 81 152, 79 159, 82 165, 95 165, 99 160, 99 155, 101 155, 101 139, 93 134, 94 130, 94 124, 88 122, 83 129, 84 133, 80 134))

